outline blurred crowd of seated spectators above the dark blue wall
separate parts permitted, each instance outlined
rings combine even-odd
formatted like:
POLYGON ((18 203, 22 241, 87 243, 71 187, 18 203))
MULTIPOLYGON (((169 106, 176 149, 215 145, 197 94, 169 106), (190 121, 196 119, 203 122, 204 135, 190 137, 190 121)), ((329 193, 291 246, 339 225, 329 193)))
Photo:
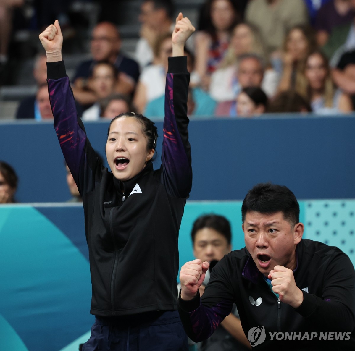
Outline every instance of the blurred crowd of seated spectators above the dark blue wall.
MULTIPOLYGON (((87 0, 87 2, 90 2, 87 0)), ((68 1, 51 8, 33 1, 36 25, 54 14, 70 35, 68 1)), ((47 4, 47 5, 45 5, 47 4)), ((1 0, 0 68, 6 66, 11 14, 23 0, 1 0)), ((164 115, 165 75, 178 1, 142 0, 135 54, 121 50, 118 26, 100 21, 91 31, 89 60, 71 77, 83 120, 136 111, 164 115)), ((206 0, 186 45, 191 73, 189 116, 251 117, 263 113, 349 113, 355 103, 355 0, 206 0)), ((122 14, 121 14, 122 16, 122 14)), ((66 37, 66 35, 65 35, 66 37)), ((64 42, 65 47, 65 42, 64 42)), ((16 119, 53 118, 46 94, 46 59, 38 53, 35 96, 16 119)))

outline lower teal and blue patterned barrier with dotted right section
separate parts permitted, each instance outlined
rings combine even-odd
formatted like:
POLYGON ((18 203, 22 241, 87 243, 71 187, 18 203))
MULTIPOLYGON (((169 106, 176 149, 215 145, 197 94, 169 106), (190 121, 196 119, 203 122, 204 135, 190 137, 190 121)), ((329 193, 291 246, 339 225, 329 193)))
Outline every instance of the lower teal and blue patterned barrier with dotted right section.
MULTIPOLYGON (((301 201, 305 238, 335 245, 355 264, 355 200, 301 201)), ((193 259, 190 230, 225 215, 233 249, 244 247, 241 202, 187 202, 180 266, 193 259)), ((81 204, 0 206, 0 350, 77 351, 89 338, 91 284, 81 204)))

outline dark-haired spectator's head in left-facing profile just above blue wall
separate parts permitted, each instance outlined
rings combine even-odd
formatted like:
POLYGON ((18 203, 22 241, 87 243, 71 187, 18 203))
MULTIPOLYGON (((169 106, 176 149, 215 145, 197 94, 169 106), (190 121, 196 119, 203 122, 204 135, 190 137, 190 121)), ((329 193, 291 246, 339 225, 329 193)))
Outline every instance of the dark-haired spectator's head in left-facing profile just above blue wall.
POLYGON ((263 114, 267 109, 268 99, 260 88, 244 88, 237 96, 236 115, 252 117, 263 114))

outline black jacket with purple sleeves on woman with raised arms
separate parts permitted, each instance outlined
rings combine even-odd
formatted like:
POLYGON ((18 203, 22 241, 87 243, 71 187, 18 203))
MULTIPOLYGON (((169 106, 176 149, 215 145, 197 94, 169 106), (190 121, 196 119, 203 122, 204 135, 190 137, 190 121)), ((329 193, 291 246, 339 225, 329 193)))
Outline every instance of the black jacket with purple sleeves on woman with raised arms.
POLYGON ((54 127, 83 198, 91 313, 120 316, 177 309, 178 234, 192 183, 186 57, 169 57, 162 166, 119 181, 97 157, 62 61, 47 64, 54 127))

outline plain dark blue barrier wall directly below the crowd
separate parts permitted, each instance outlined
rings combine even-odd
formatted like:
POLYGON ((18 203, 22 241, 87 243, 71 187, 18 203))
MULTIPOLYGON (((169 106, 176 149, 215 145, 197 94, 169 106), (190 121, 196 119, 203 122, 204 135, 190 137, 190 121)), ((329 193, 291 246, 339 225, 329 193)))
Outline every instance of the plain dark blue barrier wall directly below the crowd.
MULTIPOLYGON (((162 136, 162 122, 157 126, 162 136)), ((86 123, 92 145, 103 156, 107 127, 104 121, 86 123)), ((355 198, 353 116, 192 120, 189 131, 192 200, 243 199, 264 181, 288 186, 299 199, 355 198)), ((19 175, 18 201, 70 198, 51 122, 1 122, 0 160, 19 175)))

